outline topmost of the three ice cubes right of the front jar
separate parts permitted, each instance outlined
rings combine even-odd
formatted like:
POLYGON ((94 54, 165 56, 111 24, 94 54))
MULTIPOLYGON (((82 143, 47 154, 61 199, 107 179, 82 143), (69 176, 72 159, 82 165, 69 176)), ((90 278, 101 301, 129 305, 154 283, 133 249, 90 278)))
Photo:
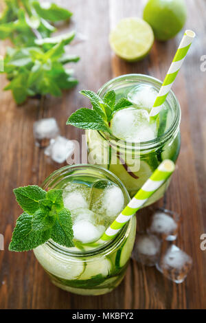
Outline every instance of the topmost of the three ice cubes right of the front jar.
POLYGON ((157 234, 159 238, 167 241, 174 241, 177 236, 178 221, 178 214, 168 210, 157 210, 152 215, 148 232, 157 234))

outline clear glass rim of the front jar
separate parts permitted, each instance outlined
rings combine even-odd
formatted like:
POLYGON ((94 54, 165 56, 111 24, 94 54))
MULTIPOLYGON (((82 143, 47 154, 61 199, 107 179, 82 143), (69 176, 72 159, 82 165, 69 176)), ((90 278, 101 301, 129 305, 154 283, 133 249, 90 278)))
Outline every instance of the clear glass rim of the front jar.
MULTIPOLYGON (((126 190, 124 183, 122 183, 122 181, 119 179, 119 177, 117 177, 115 174, 113 174, 113 172, 111 172, 110 170, 107 170, 106 168, 103 168, 102 166, 98 166, 98 165, 75 164, 75 165, 64 166, 64 167, 59 168, 58 170, 55 170, 54 172, 52 172, 52 174, 50 174, 45 179, 45 181, 43 181, 43 183, 41 184, 41 187, 43 189, 45 189, 45 188, 47 188, 49 183, 51 181, 55 181, 58 176, 61 177, 62 175, 69 174, 69 172, 71 172, 71 174, 73 174, 73 172, 75 170, 80 170, 81 168, 83 168, 83 169, 90 168, 90 169, 100 170, 103 173, 103 175, 104 175, 104 173, 106 173, 107 175, 109 175, 109 177, 112 177, 111 181, 114 181, 114 183, 118 183, 119 188, 121 188, 121 190, 123 191, 124 198, 126 198, 126 200, 127 200, 126 203, 128 203, 128 201, 130 201, 130 196, 128 194, 128 191, 126 190), (68 172, 68 170, 69 170, 69 172, 68 172)), ((130 221, 131 221, 131 219, 130 219, 130 221)), ((64 247, 63 245, 59 245, 58 243, 56 243, 52 239, 49 239, 49 241, 47 241, 43 245, 53 249, 54 251, 56 251, 60 254, 64 254, 66 256, 73 256, 73 257, 75 256, 77 258, 82 257, 82 256, 93 256, 95 254, 99 254, 100 252, 105 252, 105 251, 109 252, 109 250, 111 248, 113 248, 116 245, 119 245, 119 243, 122 242, 130 221, 128 221, 128 223, 126 223, 126 225, 124 225, 124 227, 122 227, 122 230, 119 230, 119 232, 118 232, 117 236, 115 236, 115 238, 100 245, 99 247, 95 247, 94 249, 86 250, 84 252, 82 250, 80 252, 69 250, 67 247, 64 247)))

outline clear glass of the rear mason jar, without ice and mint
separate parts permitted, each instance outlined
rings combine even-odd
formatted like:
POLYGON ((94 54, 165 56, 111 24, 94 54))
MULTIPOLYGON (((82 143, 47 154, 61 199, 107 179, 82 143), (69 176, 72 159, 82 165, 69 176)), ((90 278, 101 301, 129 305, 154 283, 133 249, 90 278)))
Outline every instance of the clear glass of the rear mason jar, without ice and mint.
MULTIPOLYGON (((114 90, 116 99, 119 100, 125 98, 131 89, 139 85, 150 85, 158 93, 162 83, 151 76, 128 74, 108 81, 98 91, 98 95, 104 98, 108 91, 114 90)), ((125 142, 103 131, 86 131, 89 164, 98 164, 111 170, 124 183, 130 197, 143 186, 163 159, 175 162, 179 155, 181 108, 172 91, 168 94, 165 104, 168 109, 165 131, 153 140, 139 143, 125 142)), ((144 206, 160 199, 168 188, 169 181, 170 179, 148 199, 144 206)))

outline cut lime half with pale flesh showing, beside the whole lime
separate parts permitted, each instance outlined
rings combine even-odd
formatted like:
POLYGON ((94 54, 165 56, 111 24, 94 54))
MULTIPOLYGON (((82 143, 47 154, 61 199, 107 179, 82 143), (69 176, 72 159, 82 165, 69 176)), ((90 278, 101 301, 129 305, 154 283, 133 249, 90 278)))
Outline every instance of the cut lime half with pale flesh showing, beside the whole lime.
POLYGON ((117 56, 135 61, 141 60, 150 52, 154 34, 146 21, 140 18, 125 18, 111 31, 109 41, 117 56))

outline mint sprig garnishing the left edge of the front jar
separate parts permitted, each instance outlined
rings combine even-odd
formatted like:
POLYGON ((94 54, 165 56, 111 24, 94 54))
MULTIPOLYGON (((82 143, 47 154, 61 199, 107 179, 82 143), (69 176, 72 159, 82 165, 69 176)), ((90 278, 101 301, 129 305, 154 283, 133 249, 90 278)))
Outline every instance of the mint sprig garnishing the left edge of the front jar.
POLYGON ((16 188, 14 194, 24 212, 16 221, 10 251, 28 251, 49 238, 65 247, 74 246, 71 212, 64 208, 61 189, 46 192, 34 185, 16 188))

